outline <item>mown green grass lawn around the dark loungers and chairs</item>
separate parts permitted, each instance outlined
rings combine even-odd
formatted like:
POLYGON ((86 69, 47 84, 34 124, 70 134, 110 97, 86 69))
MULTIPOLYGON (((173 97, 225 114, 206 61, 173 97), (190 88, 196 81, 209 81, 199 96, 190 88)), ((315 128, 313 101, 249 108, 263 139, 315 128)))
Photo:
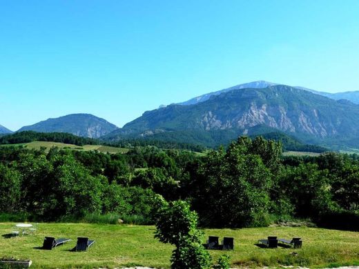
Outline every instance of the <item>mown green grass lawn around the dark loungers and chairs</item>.
MULTIPOLYGON (((1 235, 8 234, 13 225, 14 223, 0 223, 1 235)), ((169 268, 173 248, 154 239, 154 231, 153 226, 40 223, 37 235, 18 238, 2 236, 0 257, 30 258, 33 262, 32 268, 169 268), (42 246, 45 236, 66 237, 72 241, 54 250, 41 250, 39 247, 42 246), (69 251, 80 236, 95 239, 96 242, 88 252, 69 251)), ((228 252, 232 257, 232 267, 359 265, 359 232, 290 227, 206 229, 204 232, 206 236, 235 238, 235 250, 228 252), (303 247, 266 249, 255 246, 258 239, 269 235, 302 237, 303 247)), ((211 250, 210 253, 216 261, 226 252, 211 250)))

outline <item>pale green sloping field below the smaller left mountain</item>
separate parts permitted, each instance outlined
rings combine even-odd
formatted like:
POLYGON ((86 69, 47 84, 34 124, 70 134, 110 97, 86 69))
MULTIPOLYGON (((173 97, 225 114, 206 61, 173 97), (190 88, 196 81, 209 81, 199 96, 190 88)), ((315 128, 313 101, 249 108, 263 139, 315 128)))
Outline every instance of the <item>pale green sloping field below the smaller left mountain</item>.
POLYGON ((115 148, 110 146, 101 146, 101 145, 84 145, 76 146, 66 143, 57 143, 57 142, 48 142, 48 141, 32 141, 30 143, 20 143, 20 144, 10 144, 10 145, 1 145, 1 146, 24 146, 28 149, 39 150, 40 148, 46 148, 46 152, 52 147, 57 148, 70 148, 72 150, 98 150, 99 152, 108 152, 111 154, 116 153, 126 153, 128 152, 127 148, 115 148))

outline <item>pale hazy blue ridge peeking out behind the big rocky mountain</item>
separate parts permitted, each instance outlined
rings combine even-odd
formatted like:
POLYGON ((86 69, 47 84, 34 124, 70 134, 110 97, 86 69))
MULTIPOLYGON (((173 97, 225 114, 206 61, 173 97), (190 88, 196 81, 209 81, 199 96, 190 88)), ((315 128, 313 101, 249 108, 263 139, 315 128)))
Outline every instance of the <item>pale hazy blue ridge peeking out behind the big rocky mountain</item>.
MULTIPOLYGON (((269 81, 253 81, 253 82, 249 82, 249 83, 236 85, 231 88, 226 88, 224 90, 218 90, 217 92, 210 92, 207 94, 203 94, 199 97, 195 97, 193 99, 189 99, 188 101, 184 101, 184 102, 178 103, 178 104, 183 105, 183 106, 188 106, 188 105, 193 105, 196 103, 206 101, 213 95, 219 95, 219 94, 222 94, 223 92, 230 92, 231 90, 240 90, 240 89, 245 89, 245 88, 264 89, 269 86, 276 86, 276 85, 281 85, 281 84, 273 83, 273 82, 269 82, 269 81)), ((321 91, 317 91, 317 90, 311 90, 311 89, 300 87, 300 86, 294 86, 293 88, 298 88, 300 90, 309 90, 310 92, 320 94, 322 96, 329 97, 334 100, 347 99, 349 101, 352 101, 353 103, 359 104, 359 91, 330 93, 330 92, 321 92, 321 91)))

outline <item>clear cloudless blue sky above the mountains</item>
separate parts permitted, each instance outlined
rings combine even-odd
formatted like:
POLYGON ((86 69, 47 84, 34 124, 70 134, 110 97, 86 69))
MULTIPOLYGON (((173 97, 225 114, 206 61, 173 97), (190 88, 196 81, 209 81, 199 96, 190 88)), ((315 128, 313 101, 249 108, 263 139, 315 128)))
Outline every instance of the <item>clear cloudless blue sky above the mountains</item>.
POLYGON ((145 110, 267 80, 359 90, 359 1, 0 0, 0 124, 145 110))

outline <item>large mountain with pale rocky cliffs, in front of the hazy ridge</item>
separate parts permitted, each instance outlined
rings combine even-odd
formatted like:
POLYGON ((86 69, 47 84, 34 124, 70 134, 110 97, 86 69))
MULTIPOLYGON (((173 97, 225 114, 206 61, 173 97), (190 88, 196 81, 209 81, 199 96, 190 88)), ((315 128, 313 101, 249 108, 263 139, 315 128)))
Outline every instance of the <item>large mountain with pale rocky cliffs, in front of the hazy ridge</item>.
MULTIPOLYGON (((261 83, 265 82, 256 85, 261 83)), ((142 117, 107 137, 137 135, 151 138, 191 133, 195 140, 207 132, 220 139, 229 132, 233 136, 249 134, 256 126, 270 128, 271 132, 287 132, 307 142, 316 139, 336 139, 338 142, 340 139, 356 139, 359 135, 359 106, 350 101, 335 101, 283 85, 237 87, 201 97, 192 106, 173 104, 144 112, 142 117), (207 100, 203 101, 203 98, 207 100)))

